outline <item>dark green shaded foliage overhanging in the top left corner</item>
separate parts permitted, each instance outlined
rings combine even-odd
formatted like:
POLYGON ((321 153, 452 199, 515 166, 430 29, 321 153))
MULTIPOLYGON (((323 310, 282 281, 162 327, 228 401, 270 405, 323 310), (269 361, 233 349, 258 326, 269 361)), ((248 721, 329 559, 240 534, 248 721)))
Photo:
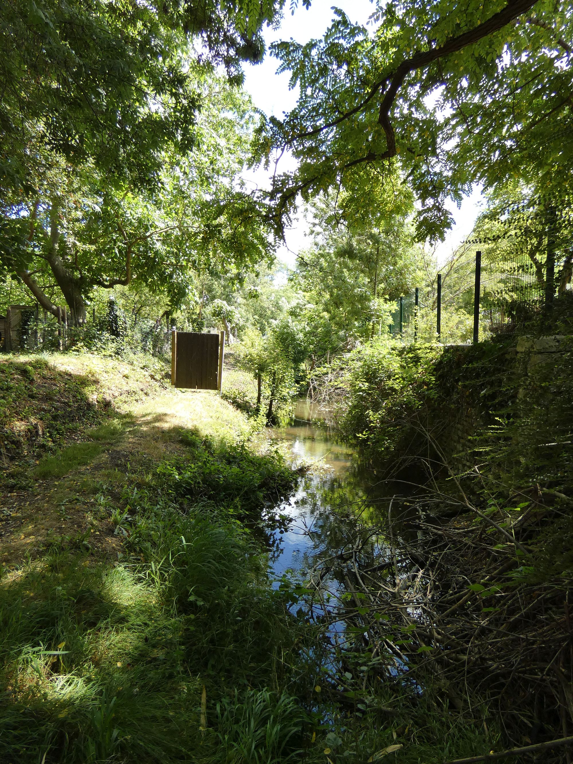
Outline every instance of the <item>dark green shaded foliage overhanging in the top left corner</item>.
POLYGON ((282 5, 3 3, 2 198, 34 190, 57 157, 153 183, 166 143, 182 154, 193 144, 197 66, 222 64, 240 83, 241 62, 261 60, 261 26, 276 21, 282 5))

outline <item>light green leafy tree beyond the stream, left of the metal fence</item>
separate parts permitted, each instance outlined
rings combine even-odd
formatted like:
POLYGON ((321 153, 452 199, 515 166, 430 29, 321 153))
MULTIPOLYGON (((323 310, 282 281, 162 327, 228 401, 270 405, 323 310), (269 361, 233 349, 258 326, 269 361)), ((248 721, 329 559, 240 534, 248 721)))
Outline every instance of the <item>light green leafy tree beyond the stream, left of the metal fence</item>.
POLYGON ((299 254, 293 274, 306 306, 293 311, 306 316, 316 357, 371 338, 385 319, 388 301, 407 293, 416 279, 421 251, 410 225, 410 193, 397 181, 387 182, 371 198, 370 214, 363 198, 357 202, 345 193, 311 206, 314 245, 299 254))

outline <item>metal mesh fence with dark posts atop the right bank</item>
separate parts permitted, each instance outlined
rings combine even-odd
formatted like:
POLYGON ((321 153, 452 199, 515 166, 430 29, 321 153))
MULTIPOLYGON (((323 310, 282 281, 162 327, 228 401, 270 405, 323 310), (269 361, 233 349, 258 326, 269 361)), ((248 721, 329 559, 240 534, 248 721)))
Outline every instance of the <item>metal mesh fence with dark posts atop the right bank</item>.
POLYGON ((552 308, 555 293, 571 288, 571 213, 546 205, 511 212, 496 221, 499 233, 466 242, 430 283, 397 300, 391 334, 403 342, 482 342, 552 308))

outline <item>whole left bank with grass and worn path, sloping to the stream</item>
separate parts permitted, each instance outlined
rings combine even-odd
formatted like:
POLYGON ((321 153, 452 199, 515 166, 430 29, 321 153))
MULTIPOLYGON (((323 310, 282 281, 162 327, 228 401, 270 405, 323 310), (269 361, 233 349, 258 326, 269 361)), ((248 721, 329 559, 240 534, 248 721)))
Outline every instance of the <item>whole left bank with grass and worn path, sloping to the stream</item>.
POLYGON ((214 394, 162 391, 149 370, 3 371, 5 428, 35 417, 44 439, 14 453, 21 485, 3 500, 2 761, 294 756, 310 722, 286 685, 305 675, 306 629, 256 540, 290 467, 214 394))

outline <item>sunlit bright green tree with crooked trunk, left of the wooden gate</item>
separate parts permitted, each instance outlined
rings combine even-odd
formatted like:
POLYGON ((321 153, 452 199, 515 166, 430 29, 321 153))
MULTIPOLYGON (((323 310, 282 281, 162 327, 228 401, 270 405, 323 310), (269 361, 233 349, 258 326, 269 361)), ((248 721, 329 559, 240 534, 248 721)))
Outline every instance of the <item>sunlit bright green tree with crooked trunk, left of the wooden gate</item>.
POLYGON ((193 152, 163 151, 154 186, 110 183, 92 161, 67 173, 60 162, 33 202, 5 203, 2 264, 44 309, 55 315, 62 293, 80 324, 95 286, 130 283, 164 290, 177 306, 197 271, 231 276, 268 257, 264 211, 235 182, 248 156, 250 103, 202 69, 195 85, 204 107, 193 152))

